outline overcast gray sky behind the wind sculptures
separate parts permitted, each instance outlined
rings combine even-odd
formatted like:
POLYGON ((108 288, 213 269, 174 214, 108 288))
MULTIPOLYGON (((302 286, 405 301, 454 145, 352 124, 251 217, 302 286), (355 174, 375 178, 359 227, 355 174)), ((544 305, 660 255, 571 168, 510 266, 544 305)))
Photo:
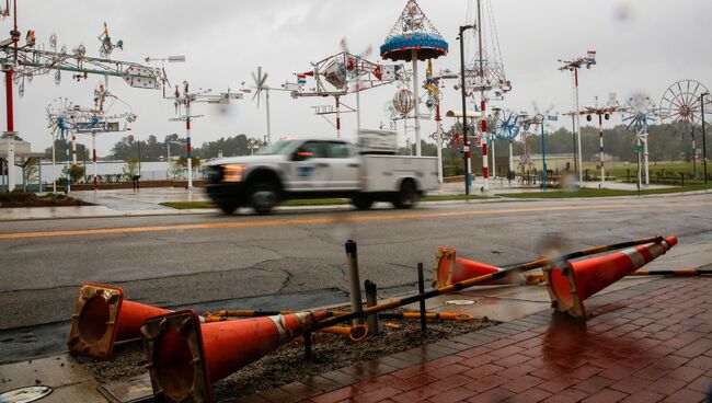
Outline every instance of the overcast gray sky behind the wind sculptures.
MULTIPOLYGON (((96 1, 19 0, 20 31, 36 31, 37 42, 47 43, 50 34, 73 48, 82 43, 88 54, 97 56, 103 22, 114 39, 124 41, 124 50, 113 58, 142 61, 145 57, 185 55, 187 62, 166 65, 172 83, 187 80, 198 87, 223 91, 252 84, 250 72, 262 66, 269 73, 268 84, 294 81, 294 72, 310 69, 310 62, 340 51, 345 37, 353 53, 372 46, 372 61, 379 61, 378 47, 399 16, 404 0, 266 0, 266 1, 96 1)), ((502 56, 512 91, 504 106, 531 110, 550 104, 559 112, 572 108, 571 78, 556 70, 560 58, 598 53, 598 66, 581 74, 581 103, 593 104, 594 96, 607 99, 617 92, 620 101, 643 92, 656 102, 676 80, 696 79, 712 85, 712 1, 709 0, 492 0, 502 56)), ((458 69, 458 26, 466 23, 467 0, 421 0, 421 7, 450 44, 450 54, 434 61, 434 68, 458 69)), ((11 20, 0 22, 7 37, 11 20)), ((421 72, 424 68, 421 69, 421 72)), ((56 87, 50 76, 26 84, 25 95, 16 97, 15 129, 32 141, 33 150, 50 145, 45 106, 57 96, 90 106, 93 89, 103 80, 90 77, 76 82, 69 73, 56 87)), ((444 93, 444 108, 459 107, 459 96, 444 93)), ((184 124, 169 122, 173 105, 160 91, 131 89, 120 79, 111 79, 110 90, 130 103, 138 120, 133 135, 184 134, 184 124)), ((363 93, 363 126, 378 127, 386 122, 384 105, 397 88, 387 85, 363 93)), ((5 129, 4 96, 0 118, 5 129)), ((335 129, 314 116, 312 105, 330 99, 292 100, 288 93, 273 92, 272 130, 274 136, 335 136, 335 129)), ((344 100, 355 106, 353 95, 344 100)), ((249 99, 237 101, 227 113, 209 105, 196 105, 193 142, 245 133, 266 133, 264 106, 249 99)), ((610 124, 615 124, 613 119, 610 124)), ((448 122, 445 122, 448 124, 448 122)), ((355 134, 355 114, 343 118, 346 138, 355 134)), ((402 127, 402 126, 401 126, 402 127)), ((424 137, 435 123, 423 123, 424 137)), ((118 135, 100 137, 99 154, 106 154, 118 135), (114 136, 114 137, 112 137, 114 136)), ((82 139, 89 143, 89 139, 82 139)))

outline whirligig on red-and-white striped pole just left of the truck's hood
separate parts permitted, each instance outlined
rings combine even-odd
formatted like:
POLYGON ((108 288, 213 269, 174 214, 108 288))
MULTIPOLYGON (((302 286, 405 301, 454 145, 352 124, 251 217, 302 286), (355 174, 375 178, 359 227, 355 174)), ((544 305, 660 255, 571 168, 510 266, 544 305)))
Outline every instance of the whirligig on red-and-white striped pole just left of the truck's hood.
MULTIPOLYGON (((217 94, 211 93, 210 89, 198 89, 197 92, 191 92, 187 81, 183 81, 183 92, 180 91, 179 87, 175 85, 175 91, 173 96, 166 97, 166 100, 172 100, 173 105, 175 106, 176 117, 172 117, 169 120, 171 122, 185 122, 185 151, 187 154, 187 188, 193 188, 193 159, 191 156, 191 122, 194 118, 202 117, 203 115, 193 115, 191 113, 191 107, 193 103, 208 103, 208 104, 229 104, 230 100, 242 100, 241 92, 230 92, 228 89, 227 92, 221 92, 217 94)), ((246 92, 246 90, 242 90, 246 92)))

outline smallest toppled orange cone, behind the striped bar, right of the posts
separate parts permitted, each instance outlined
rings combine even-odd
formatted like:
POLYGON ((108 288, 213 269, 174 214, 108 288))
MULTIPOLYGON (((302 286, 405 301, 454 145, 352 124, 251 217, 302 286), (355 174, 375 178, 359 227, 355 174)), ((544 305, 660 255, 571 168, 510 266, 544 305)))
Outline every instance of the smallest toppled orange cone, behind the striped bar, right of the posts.
MULTIPOLYGON (((435 288, 450 286, 455 283, 499 272, 499 267, 484 263, 457 257, 453 247, 438 247, 435 252, 435 288)), ((483 285, 503 284, 503 281, 484 283, 483 285)))

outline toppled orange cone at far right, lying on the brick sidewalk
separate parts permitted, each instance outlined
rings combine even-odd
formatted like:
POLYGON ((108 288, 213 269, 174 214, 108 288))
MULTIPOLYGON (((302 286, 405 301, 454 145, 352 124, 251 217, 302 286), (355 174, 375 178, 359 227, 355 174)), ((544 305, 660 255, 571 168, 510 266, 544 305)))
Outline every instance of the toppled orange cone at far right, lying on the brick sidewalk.
POLYGON ((547 288, 551 304, 575 318, 586 318, 584 300, 635 272, 677 244, 668 237, 659 243, 650 243, 579 262, 564 262, 546 268, 547 288))

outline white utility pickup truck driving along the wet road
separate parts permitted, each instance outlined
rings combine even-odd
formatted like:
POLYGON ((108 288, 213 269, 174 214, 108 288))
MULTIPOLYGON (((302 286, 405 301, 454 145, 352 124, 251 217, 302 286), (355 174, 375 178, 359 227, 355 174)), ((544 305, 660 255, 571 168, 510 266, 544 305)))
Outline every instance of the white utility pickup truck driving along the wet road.
POLYGON ((252 206, 266 215, 282 200, 349 198, 358 209, 374 202, 412 207, 438 186, 437 159, 368 153, 341 140, 280 140, 259 156, 208 165, 208 196, 226 214, 252 206))

